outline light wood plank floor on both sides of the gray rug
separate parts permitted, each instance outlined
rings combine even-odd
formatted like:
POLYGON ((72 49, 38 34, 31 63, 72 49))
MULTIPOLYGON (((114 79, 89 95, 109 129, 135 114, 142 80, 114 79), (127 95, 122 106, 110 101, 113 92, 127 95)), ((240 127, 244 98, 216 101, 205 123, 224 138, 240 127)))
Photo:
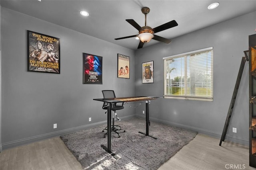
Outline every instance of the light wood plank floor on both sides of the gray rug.
MULTIPOLYGON (((249 147, 198 134, 158 170, 256 170, 249 166, 249 147)), ((0 170, 82 170, 59 137, 0 153, 0 170)))

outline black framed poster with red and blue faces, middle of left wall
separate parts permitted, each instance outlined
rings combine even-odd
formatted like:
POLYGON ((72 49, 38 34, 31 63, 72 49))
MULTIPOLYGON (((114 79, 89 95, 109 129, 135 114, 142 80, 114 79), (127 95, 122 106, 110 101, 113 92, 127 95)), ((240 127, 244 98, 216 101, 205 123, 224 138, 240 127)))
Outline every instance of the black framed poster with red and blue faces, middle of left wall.
POLYGON ((83 53, 83 84, 102 84, 102 57, 83 53))

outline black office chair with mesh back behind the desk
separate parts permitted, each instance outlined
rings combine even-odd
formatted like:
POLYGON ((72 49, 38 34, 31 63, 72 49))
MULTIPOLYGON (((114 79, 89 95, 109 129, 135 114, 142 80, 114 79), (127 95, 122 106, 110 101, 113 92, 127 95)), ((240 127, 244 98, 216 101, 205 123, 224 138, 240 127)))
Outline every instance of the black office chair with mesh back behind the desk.
MULTIPOLYGON (((116 98, 114 90, 102 90, 102 94, 103 94, 103 98, 116 98)), ((125 132, 125 130, 122 129, 121 126, 114 124, 114 119, 115 119, 114 117, 116 117, 116 119, 119 121, 121 120, 119 117, 117 117, 116 110, 124 109, 123 105, 124 105, 124 102, 122 102, 122 105, 117 105, 116 103, 112 104, 113 118, 112 118, 111 132, 115 132, 116 134, 118 134, 118 137, 120 137, 120 135, 117 131, 123 130, 125 132)), ((108 109, 108 103, 104 102, 102 109, 108 109)), ((107 111, 105 113, 107 113, 107 111)), ((108 131, 108 127, 103 129, 102 132, 104 131, 108 131)), ((104 134, 104 137, 106 137, 107 134, 108 132, 104 134)))

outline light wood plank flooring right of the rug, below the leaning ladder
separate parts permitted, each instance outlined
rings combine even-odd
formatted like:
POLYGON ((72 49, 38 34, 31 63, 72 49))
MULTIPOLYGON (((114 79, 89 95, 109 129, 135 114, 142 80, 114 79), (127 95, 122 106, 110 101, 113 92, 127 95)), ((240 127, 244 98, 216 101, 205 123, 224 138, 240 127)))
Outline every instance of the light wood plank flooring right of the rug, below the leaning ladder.
POLYGON ((198 134, 158 170, 256 170, 249 166, 249 147, 198 134))

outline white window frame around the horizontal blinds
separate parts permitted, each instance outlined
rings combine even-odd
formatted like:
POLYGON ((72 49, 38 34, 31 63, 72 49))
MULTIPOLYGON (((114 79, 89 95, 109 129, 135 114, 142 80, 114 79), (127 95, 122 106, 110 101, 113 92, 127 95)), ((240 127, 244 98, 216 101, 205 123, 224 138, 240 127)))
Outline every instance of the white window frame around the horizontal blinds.
MULTIPOLYGON (((204 49, 199 49, 196 51, 190 51, 190 52, 186 52, 186 53, 181 53, 178 55, 172 55, 172 56, 168 56, 168 57, 163 57, 163 75, 164 75, 164 94, 163 97, 164 98, 175 98, 175 99, 183 99, 183 100, 203 100, 203 101, 213 101, 213 47, 208 47, 208 48, 204 48, 204 49), (167 87, 167 73, 166 73, 166 65, 165 65, 165 61, 168 59, 177 59, 177 58, 182 58, 182 57, 188 57, 188 55, 195 55, 198 53, 203 53, 203 52, 207 52, 207 51, 212 51, 212 56, 211 56, 211 72, 212 72, 212 79, 211 79, 211 96, 207 97, 207 96, 190 96, 189 95, 170 95, 170 94, 166 94, 166 87, 167 87)), ((207 67, 208 68, 208 67, 207 67)), ((187 73, 187 71, 186 71, 187 73)), ((185 74, 186 74, 185 73, 185 74)), ((186 78, 187 75, 186 75, 186 78)), ((186 79, 184 78, 184 79, 186 79)), ((188 89, 188 86, 186 85, 185 89, 188 89)))

